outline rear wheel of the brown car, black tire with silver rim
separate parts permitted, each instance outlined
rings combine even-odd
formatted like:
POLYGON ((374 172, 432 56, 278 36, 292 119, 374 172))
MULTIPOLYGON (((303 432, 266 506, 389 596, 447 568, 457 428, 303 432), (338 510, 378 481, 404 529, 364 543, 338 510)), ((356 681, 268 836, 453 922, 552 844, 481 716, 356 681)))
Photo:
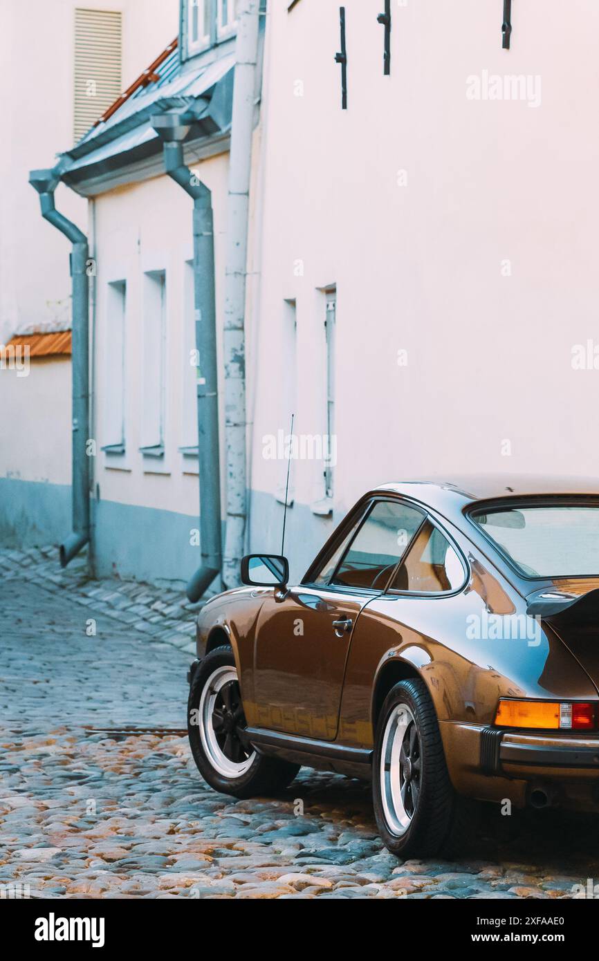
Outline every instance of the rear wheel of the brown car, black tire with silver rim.
POLYGON ((479 805, 462 798, 454 790, 445 763, 435 707, 421 678, 402 680, 387 694, 376 731, 372 798, 381 839, 387 850, 397 857, 433 857, 438 853, 448 857, 463 856, 471 843, 479 805), (403 719, 400 730, 404 729, 404 722, 410 715, 412 721, 405 728, 403 740, 401 733, 397 735, 399 741, 396 743, 402 743, 403 753, 399 753, 396 763, 389 765, 389 752, 394 743, 391 719, 396 717, 398 709, 403 719), (413 743, 411 755, 412 726, 417 744, 413 743), (387 766, 382 772, 384 750, 387 766), (402 758, 401 762, 399 758, 402 758), (397 808, 391 800, 391 787, 395 791, 392 797, 397 798, 400 784, 405 790, 406 801, 403 824, 401 815, 395 816, 397 808))

